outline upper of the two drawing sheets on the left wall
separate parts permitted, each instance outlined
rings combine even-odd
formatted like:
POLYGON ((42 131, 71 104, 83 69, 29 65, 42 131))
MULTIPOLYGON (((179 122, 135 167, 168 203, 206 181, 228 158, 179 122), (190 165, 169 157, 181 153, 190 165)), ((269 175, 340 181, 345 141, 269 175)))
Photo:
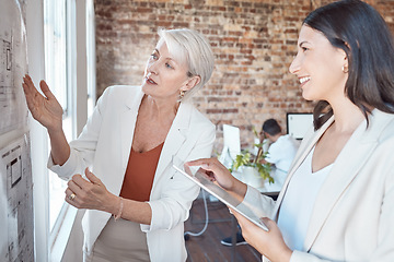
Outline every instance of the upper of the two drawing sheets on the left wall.
POLYGON ((1 0, 0 8, 0 135, 23 128, 27 108, 22 90, 27 73, 26 32, 18 0, 1 0))

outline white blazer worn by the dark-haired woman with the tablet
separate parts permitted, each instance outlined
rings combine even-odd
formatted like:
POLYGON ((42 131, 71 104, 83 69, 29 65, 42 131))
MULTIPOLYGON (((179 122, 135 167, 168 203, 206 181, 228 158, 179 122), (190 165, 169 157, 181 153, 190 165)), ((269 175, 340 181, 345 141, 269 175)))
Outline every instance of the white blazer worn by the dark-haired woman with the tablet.
MULTIPOLYGON (((334 121, 305 136, 276 203, 247 189, 244 202, 278 219, 291 177, 334 121)), ((264 261, 268 261, 264 258, 264 261)), ((378 109, 337 156, 312 211, 303 249, 291 262, 394 261, 394 115, 378 109)))

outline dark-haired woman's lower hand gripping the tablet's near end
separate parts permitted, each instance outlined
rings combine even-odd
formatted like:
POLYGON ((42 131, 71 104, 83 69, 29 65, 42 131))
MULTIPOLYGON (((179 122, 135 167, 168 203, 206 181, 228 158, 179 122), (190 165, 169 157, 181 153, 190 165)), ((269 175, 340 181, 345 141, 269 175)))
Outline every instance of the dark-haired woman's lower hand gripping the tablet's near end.
POLYGON ((280 229, 274 221, 268 217, 260 218, 269 229, 265 231, 235 211, 231 210, 231 213, 241 226, 242 236, 259 253, 270 261, 290 261, 292 251, 285 243, 280 229))

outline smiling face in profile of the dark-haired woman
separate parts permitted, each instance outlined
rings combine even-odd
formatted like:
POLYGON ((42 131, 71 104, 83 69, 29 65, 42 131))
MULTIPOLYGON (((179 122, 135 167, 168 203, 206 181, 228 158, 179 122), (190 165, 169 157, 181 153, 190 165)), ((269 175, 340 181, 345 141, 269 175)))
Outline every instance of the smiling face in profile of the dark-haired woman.
POLYGON ((344 50, 335 48, 318 31, 302 25, 298 53, 289 71, 300 80, 302 96, 306 100, 327 100, 345 96, 348 67, 344 50))

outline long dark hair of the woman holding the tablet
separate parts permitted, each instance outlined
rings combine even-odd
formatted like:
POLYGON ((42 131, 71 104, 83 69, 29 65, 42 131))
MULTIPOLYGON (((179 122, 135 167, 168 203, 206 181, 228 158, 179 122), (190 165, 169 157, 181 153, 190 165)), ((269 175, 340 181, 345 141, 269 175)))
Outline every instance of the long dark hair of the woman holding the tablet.
MULTIPOLYGON (((344 0, 314 10, 303 24, 346 52, 345 94, 361 109, 367 123, 371 108, 394 114, 393 35, 376 10, 359 0, 344 0)), ((329 104, 320 100, 313 112, 315 130, 332 115, 329 104)))

